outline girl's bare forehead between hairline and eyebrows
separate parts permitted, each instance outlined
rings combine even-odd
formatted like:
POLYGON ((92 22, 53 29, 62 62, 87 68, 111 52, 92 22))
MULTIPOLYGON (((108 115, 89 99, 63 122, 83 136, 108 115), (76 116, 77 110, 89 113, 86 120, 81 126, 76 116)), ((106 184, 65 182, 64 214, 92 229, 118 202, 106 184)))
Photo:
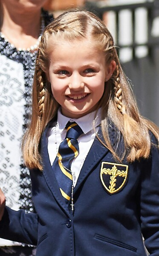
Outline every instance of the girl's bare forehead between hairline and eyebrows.
POLYGON ((73 68, 87 65, 104 65, 105 54, 93 42, 64 41, 62 44, 50 45, 49 63, 54 66, 69 66, 73 68))

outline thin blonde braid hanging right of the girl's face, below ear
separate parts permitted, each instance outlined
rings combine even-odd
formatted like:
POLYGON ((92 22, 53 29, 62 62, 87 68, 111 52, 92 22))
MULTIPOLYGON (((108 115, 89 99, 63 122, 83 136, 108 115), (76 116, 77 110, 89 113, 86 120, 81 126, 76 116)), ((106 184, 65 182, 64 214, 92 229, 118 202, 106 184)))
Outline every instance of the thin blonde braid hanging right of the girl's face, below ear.
POLYGON ((122 115, 124 115, 126 111, 126 107, 124 103, 122 102, 122 90, 121 90, 121 84, 120 84, 120 73, 119 73, 119 66, 116 66, 116 81, 115 81, 115 102, 117 105, 117 108, 121 112, 122 115))

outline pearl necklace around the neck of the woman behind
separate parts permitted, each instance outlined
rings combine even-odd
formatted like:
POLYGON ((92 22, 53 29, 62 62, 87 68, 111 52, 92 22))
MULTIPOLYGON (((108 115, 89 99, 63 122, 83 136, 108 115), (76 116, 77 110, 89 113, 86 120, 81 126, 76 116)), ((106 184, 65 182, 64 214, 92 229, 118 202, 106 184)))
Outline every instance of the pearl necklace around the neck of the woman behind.
MULTIPOLYGON (((37 39, 37 42, 36 42, 36 44, 34 44, 34 45, 31 45, 30 47, 28 47, 28 48, 17 48, 17 47, 15 47, 13 44, 11 44, 11 46, 12 46, 12 48, 16 48, 17 49, 17 51, 19 51, 19 52, 21 52, 21 51, 28 51, 28 52, 34 52, 35 50, 37 50, 38 49, 38 47, 39 47, 39 44, 40 44, 40 41, 41 41, 41 34, 43 33, 43 30, 45 29, 45 22, 44 22, 44 19, 43 18, 41 18, 41 28, 40 28, 40 36, 38 37, 38 39, 37 39)), ((4 38, 4 40, 7 42, 8 40, 6 39, 6 37, 5 37, 5 35, 3 35, 3 33, 2 32, 0 32, 0 36, 2 37, 2 38, 4 38)))

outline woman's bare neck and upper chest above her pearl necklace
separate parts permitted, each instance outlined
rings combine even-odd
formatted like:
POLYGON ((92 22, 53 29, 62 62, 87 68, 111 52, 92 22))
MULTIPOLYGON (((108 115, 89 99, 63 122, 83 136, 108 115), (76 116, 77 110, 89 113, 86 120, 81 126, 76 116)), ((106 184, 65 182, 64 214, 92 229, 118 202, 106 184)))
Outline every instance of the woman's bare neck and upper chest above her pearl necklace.
POLYGON ((40 34, 40 9, 12 12, 3 5, 1 32, 17 48, 27 49, 36 44, 40 34))

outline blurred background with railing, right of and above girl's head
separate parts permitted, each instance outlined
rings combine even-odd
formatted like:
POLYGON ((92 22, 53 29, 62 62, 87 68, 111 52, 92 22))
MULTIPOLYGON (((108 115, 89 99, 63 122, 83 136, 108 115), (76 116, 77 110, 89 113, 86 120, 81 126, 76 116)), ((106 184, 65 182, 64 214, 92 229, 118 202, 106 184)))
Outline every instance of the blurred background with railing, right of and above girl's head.
POLYGON ((159 0, 48 0, 44 6, 55 17, 76 7, 104 20, 142 115, 159 125, 159 0))

